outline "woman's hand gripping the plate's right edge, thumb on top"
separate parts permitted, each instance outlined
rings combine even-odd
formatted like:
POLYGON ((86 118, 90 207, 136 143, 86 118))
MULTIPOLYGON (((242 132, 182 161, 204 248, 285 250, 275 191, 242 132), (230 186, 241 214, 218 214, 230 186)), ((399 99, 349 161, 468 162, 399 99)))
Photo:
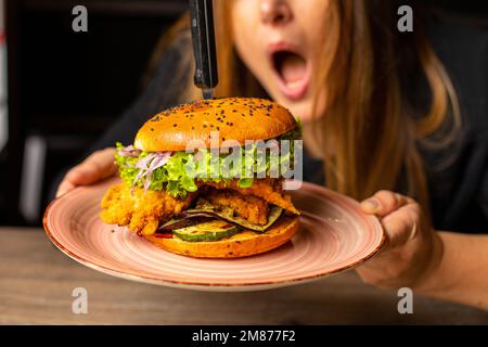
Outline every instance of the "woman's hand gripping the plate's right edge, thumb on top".
POLYGON ((410 197, 380 191, 361 203, 376 215, 386 232, 380 254, 358 267, 362 280, 381 288, 428 290, 426 281, 439 267, 442 242, 419 204, 410 197))

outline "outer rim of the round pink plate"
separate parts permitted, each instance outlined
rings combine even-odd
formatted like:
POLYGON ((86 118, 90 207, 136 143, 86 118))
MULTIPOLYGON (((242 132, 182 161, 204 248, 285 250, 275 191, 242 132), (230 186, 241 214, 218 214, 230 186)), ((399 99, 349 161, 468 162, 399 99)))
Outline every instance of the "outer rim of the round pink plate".
MULTIPOLYGON (((107 178, 107 179, 104 179, 104 180, 102 180, 95 184, 89 185, 89 187, 93 188, 99 184, 101 185, 101 184, 106 183, 107 181, 115 180, 115 179, 118 179, 118 178, 114 178, 114 177, 107 178)), ((335 192, 329 188, 325 188, 325 187, 322 187, 322 185, 319 185, 316 183, 311 183, 311 182, 306 182, 306 181, 301 182, 301 184, 309 185, 313 191, 323 190, 328 194, 335 195, 339 200, 349 201, 354 205, 358 204, 358 202, 356 200, 354 200, 352 197, 341 194, 338 192, 335 192)), ((57 204, 61 200, 74 194, 76 191, 79 191, 81 189, 87 189, 87 188, 88 188, 87 185, 77 187, 69 192, 55 197, 53 201, 51 201, 48 204, 48 207, 46 208, 44 214, 42 216, 42 226, 43 226, 43 230, 44 230, 48 239, 56 246, 57 249, 60 249, 63 254, 65 254, 73 260, 75 260, 90 269, 97 270, 99 272, 110 274, 113 277, 117 277, 120 279, 125 279, 125 280, 134 281, 134 282, 143 282, 143 283, 149 283, 149 284, 185 288, 185 290, 213 291, 213 292, 217 292, 217 291, 221 291, 221 292, 237 292, 237 291, 244 292, 244 291, 246 291, 247 292, 247 291, 271 290, 271 288, 275 288, 275 287, 283 287, 283 286, 291 286, 291 285, 307 283, 307 282, 311 282, 314 280, 319 280, 319 279, 325 278, 325 277, 329 277, 329 275, 338 274, 338 273, 347 271, 347 270, 351 270, 351 269, 362 265, 367 260, 371 259, 372 257, 374 257, 378 253, 378 250, 383 247, 383 245, 385 244, 385 241, 386 241, 386 232, 385 232, 382 223, 375 216, 371 215, 371 216, 367 216, 367 217, 368 218, 372 217, 370 219, 373 222, 373 224, 376 224, 375 229, 378 228, 378 230, 382 233, 378 244, 375 246, 375 248, 373 250, 371 250, 368 255, 363 256, 361 259, 358 259, 357 261, 355 261, 352 264, 343 266, 343 267, 334 269, 332 271, 326 271, 326 272, 319 273, 319 274, 298 277, 295 279, 291 279, 291 280, 288 279, 288 280, 281 280, 281 281, 262 281, 262 282, 253 282, 253 283, 245 283, 245 282, 243 282, 243 283, 218 283, 218 284, 192 282, 192 281, 174 281, 174 280, 165 280, 165 279, 160 279, 160 278, 154 278, 154 277, 150 277, 150 275, 143 275, 143 274, 132 274, 132 273, 128 273, 128 272, 124 272, 124 271, 119 271, 119 270, 114 270, 106 266, 95 264, 94 261, 85 259, 82 256, 79 256, 79 255, 73 253, 72 250, 69 250, 68 248, 66 248, 65 246, 63 246, 61 244, 61 242, 59 240, 56 240, 56 237, 53 235, 53 232, 49 229, 48 217, 51 214, 51 209, 54 206, 54 204, 57 204)), ((167 250, 162 249, 162 252, 167 252, 167 250)), ((228 259, 228 260, 232 261, 232 259, 228 259)))

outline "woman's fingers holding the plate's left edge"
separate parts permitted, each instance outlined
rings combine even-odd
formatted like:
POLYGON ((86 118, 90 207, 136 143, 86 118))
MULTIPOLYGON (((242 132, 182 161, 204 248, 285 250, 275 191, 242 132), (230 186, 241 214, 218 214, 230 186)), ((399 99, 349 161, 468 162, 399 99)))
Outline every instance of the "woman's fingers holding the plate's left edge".
POLYGON ((56 197, 72 191, 78 185, 97 183, 117 171, 114 163, 115 149, 110 147, 93 152, 84 162, 72 168, 57 188, 56 197))

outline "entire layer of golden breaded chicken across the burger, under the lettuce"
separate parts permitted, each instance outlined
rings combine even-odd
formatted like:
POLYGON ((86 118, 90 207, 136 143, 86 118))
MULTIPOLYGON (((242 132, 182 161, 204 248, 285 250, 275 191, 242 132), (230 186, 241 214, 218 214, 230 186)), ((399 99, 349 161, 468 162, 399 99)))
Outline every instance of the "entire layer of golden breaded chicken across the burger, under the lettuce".
POLYGON ((237 180, 229 182, 198 181, 200 190, 188 192, 185 197, 174 197, 165 191, 144 192, 125 183, 111 187, 103 196, 100 217, 105 223, 128 226, 137 233, 151 235, 160 223, 178 216, 190 207, 201 194, 217 207, 230 207, 249 222, 265 226, 268 222, 268 204, 274 204, 299 215, 291 196, 282 190, 282 181, 265 178, 256 179, 249 188, 240 188, 237 180))

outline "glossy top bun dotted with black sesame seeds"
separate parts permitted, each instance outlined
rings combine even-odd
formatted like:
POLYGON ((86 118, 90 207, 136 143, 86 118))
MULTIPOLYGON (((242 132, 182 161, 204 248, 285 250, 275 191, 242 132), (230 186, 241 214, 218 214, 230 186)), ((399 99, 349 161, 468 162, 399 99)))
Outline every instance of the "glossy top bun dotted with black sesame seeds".
MULTIPOLYGON (((134 146, 146 152, 184 151, 190 141, 210 147, 210 131, 226 140, 268 140, 297 126, 280 104, 253 98, 200 100, 164 111, 146 121, 136 136, 134 146)), ((217 138, 216 138, 217 139, 217 138)))

